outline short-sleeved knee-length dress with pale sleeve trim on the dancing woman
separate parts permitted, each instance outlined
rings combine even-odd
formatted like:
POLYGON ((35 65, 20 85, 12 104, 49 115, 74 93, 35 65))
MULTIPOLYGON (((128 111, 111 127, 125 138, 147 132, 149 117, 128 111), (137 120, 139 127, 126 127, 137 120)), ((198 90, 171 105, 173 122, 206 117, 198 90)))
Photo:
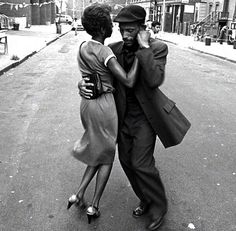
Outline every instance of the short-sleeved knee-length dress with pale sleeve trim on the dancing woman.
POLYGON ((113 77, 107 62, 115 57, 112 50, 103 44, 90 40, 82 44, 78 53, 78 64, 82 77, 91 69, 100 74, 104 94, 97 99, 81 99, 80 116, 84 133, 76 141, 73 156, 89 166, 111 164, 116 151, 118 119, 113 97, 113 77), (89 68, 80 58, 86 59, 89 68))

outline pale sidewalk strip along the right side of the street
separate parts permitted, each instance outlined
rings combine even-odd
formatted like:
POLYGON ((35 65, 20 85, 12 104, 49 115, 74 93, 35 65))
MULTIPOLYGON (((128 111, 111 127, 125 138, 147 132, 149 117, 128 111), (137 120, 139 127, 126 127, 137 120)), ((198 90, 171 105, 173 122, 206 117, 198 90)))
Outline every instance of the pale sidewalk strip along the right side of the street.
POLYGON ((217 42, 211 42, 210 46, 206 46, 205 42, 194 41, 193 36, 166 32, 159 32, 158 38, 183 48, 196 50, 236 63, 236 49, 233 49, 233 45, 228 45, 225 42, 222 45, 217 42))

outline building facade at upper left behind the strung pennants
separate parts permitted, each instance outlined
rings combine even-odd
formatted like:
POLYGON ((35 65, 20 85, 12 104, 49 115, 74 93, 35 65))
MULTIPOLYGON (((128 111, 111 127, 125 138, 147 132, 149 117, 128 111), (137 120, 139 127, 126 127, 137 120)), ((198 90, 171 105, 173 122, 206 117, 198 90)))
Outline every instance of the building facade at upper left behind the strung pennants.
POLYGON ((54 0, 0 0, 0 13, 25 27, 54 23, 55 12, 54 0))

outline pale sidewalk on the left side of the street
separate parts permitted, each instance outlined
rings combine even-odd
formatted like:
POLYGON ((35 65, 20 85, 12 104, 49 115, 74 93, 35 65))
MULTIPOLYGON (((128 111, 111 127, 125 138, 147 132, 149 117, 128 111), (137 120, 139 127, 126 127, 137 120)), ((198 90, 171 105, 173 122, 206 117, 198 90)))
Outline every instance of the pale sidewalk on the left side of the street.
POLYGON ((52 24, 20 28, 18 31, 7 31, 8 53, 3 54, 3 48, 0 47, 0 75, 19 65, 70 30, 71 26, 62 25, 61 34, 57 34, 56 26, 52 24), (12 60, 13 56, 17 60, 12 60))

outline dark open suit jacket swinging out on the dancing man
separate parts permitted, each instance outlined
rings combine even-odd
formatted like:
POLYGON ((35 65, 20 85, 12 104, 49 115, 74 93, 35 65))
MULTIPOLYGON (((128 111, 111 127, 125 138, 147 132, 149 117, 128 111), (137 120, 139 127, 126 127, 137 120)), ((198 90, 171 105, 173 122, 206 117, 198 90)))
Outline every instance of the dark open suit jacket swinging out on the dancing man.
MULTIPOLYGON (((112 43, 109 46, 118 62, 124 66, 123 42, 112 43)), ((159 89, 165 77, 167 54, 167 45, 159 40, 152 40, 150 48, 138 50, 136 56, 141 70, 134 86, 135 96, 144 114, 166 148, 179 144, 190 127, 189 121, 178 110, 175 103, 159 89)), ((116 81, 115 89, 114 95, 120 129, 126 111, 125 86, 116 81)))

